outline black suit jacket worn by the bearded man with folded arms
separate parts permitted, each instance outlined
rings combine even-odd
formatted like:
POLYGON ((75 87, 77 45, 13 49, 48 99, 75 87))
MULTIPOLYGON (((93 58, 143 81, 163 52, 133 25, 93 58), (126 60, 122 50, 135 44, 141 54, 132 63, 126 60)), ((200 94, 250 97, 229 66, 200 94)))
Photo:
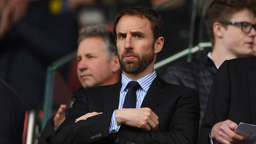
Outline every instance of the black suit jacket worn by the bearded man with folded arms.
MULTIPOLYGON (((80 90, 80 96, 66 120, 55 131, 54 144, 114 143, 109 139, 112 113, 118 109, 121 82, 80 90), (77 123, 88 112, 103 112, 77 123)), ((118 143, 194 144, 198 138, 200 117, 196 90, 154 79, 141 107, 149 107, 159 117, 158 130, 142 132, 121 125, 118 143)))

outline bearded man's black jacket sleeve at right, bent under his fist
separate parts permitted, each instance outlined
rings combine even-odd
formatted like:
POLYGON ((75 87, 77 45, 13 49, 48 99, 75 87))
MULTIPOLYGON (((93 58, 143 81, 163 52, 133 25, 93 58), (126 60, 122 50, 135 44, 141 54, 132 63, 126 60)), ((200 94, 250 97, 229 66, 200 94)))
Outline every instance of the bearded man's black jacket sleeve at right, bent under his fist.
MULTIPOLYGON (((167 131, 142 132, 128 126, 121 126, 118 143, 136 144, 195 144, 199 133, 199 98, 196 90, 184 93, 172 109, 167 131)), ((157 114, 157 113, 156 113, 157 114)), ((158 114, 157 114, 158 115, 158 114)), ((161 123, 159 122, 159 126, 161 123)))

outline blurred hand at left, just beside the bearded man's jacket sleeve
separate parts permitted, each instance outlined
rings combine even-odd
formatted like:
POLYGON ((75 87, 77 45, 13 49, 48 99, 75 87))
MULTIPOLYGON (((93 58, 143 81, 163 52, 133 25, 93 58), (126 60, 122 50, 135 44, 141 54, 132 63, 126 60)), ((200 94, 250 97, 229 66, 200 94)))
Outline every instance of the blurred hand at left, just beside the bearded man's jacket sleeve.
POLYGON ((58 109, 57 113, 54 116, 54 130, 56 130, 61 123, 66 119, 65 117, 65 111, 66 111, 67 106, 66 105, 60 105, 60 108, 58 109))

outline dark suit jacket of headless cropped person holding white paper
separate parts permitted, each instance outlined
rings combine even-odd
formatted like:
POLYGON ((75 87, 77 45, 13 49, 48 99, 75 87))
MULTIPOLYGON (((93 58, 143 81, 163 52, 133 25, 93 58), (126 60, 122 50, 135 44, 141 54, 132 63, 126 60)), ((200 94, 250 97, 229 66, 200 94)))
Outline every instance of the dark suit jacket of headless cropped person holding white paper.
POLYGON ((256 57, 225 61, 214 78, 198 143, 209 143, 212 127, 227 119, 256 124, 256 57))

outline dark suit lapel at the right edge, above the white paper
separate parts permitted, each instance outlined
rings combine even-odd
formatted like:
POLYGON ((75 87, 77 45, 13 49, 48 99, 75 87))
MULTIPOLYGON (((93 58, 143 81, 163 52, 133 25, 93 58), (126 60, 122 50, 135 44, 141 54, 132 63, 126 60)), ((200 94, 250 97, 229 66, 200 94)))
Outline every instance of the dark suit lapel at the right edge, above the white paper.
POLYGON ((250 94, 250 104, 251 104, 251 117, 252 123, 256 124, 256 62, 251 65, 254 69, 253 71, 248 72, 248 85, 249 85, 249 94, 250 94))

